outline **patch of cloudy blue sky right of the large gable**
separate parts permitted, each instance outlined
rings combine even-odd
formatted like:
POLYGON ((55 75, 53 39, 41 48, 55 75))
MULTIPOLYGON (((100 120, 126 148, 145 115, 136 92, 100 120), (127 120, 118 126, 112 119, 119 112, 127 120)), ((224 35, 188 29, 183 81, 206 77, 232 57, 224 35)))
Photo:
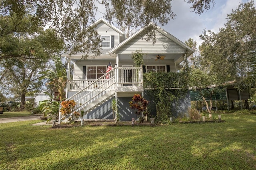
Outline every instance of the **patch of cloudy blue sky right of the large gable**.
POLYGON ((170 20, 166 26, 162 28, 184 42, 189 38, 196 40, 198 45, 202 42, 199 35, 204 29, 218 32, 226 23, 226 16, 236 9, 237 6, 246 2, 246 0, 215 0, 215 4, 211 4, 211 8, 203 14, 198 15, 191 12, 190 4, 186 4, 184 0, 174 0, 172 2, 172 10, 177 16, 175 20, 170 20))

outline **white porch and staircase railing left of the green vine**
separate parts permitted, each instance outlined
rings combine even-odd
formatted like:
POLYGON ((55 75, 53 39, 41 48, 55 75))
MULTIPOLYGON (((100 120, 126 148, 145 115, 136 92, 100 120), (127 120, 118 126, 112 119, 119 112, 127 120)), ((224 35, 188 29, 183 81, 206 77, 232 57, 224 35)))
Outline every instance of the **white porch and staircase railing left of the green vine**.
MULTIPOLYGON (((74 111, 80 111, 115 86, 143 86, 142 67, 114 67, 97 80, 70 80, 70 90, 78 91, 66 100, 74 100, 74 111)), ((62 106, 60 105, 60 109, 62 106)), ((72 114, 71 114, 72 115, 72 114)), ((59 122, 64 116, 59 113, 59 122)))

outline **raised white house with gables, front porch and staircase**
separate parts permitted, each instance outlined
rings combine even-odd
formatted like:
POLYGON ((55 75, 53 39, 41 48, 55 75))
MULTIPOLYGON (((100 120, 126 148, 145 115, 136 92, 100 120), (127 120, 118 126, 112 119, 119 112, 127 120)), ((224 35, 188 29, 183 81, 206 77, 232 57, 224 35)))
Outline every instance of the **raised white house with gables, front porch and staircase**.
MULTIPOLYGON (((150 24, 146 28, 125 39, 125 34, 108 24, 104 19, 95 22, 96 30, 102 37, 102 54, 81 59, 82 54, 63 54, 70 63, 74 63, 74 75, 68 80, 66 98, 76 102, 76 111, 84 111, 83 119, 113 119, 112 99, 118 99, 121 121, 130 121, 138 117, 130 109, 128 102, 134 94, 145 95, 143 73, 174 72, 181 68, 184 55, 194 51, 162 28, 150 24), (156 42, 146 41, 145 29, 155 28, 156 42), (144 63, 135 67, 132 53, 141 50, 144 63), (112 69, 111 69, 112 68, 112 69)), ((146 96, 144 96, 146 97, 146 96)), ((61 115, 59 121, 64 119, 61 115)))

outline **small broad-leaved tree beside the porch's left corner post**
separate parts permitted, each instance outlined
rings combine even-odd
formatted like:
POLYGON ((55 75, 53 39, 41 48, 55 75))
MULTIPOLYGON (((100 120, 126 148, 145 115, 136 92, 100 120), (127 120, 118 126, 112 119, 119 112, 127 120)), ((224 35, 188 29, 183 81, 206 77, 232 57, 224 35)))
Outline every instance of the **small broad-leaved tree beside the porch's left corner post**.
POLYGON ((66 82, 68 80, 66 68, 62 63, 60 58, 54 60, 55 68, 54 70, 42 71, 41 79, 48 79, 48 85, 52 85, 54 90, 57 90, 59 93, 60 101, 65 98, 64 89, 66 88, 66 82))

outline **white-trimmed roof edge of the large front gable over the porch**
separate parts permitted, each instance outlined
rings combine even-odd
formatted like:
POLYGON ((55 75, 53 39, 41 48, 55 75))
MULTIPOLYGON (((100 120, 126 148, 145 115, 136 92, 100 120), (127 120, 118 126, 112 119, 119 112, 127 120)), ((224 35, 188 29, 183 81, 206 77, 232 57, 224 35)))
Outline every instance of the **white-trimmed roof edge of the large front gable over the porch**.
POLYGON ((113 49, 111 49, 108 53, 114 54, 116 50, 118 50, 120 47, 122 47, 124 44, 128 43, 130 40, 132 40, 133 38, 135 38, 136 36, 138 36, 140 33, 142 33, 144 30, 146 30, 147 28, 150 27, 154 27, 158 32, 160 32, 161 34, 163 34, 164 36, 166 36, 167 38, 169 38, 170 40, 174 41, 175 43, 177 43, 178 45, 180 45, 181 47, 183 47, 184 49, 186 49, 188 56, 191 55, 194 50, 192 48, 190 48, 188 45, 186 45, 185 43, 183 43, 182 41, 180 41, 178 38, 172 36, 170 33, 168 33, 167 31, 165 31, 164 29, 160 28, 159 26, 156 26, 154 23, 150 23, 148 26, 146 26, 145 28, 141 28, 140 30, 138 30, 136 33, 134 33, 132 36, 130 36, 129 38, 127 38, 126 40, 124 40, 122 43, 118 44, 116 47, 114 47, 113 49))

